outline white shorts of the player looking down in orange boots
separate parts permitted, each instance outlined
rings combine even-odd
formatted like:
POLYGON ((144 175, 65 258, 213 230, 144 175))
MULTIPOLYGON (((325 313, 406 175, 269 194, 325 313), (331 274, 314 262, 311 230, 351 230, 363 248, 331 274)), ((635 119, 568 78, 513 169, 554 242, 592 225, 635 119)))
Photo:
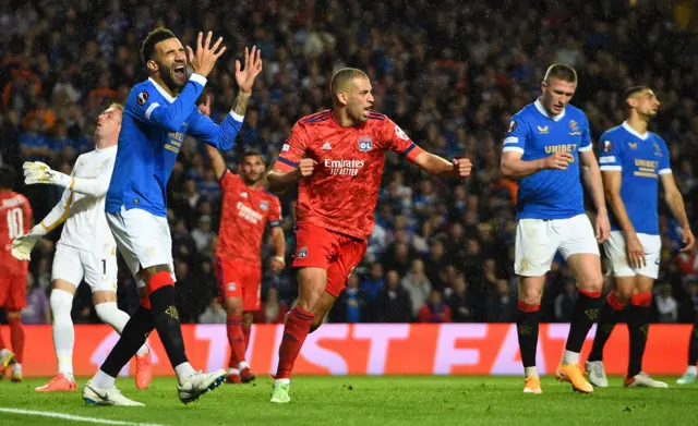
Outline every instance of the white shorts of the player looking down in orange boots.
POLYGON ((541 277, 550 270, 555 253, 565 259, 590 253, 599 256, 599 243, 587 215, 569 219, 519 219, 516 223, 514 271, 524 277, 541 277))

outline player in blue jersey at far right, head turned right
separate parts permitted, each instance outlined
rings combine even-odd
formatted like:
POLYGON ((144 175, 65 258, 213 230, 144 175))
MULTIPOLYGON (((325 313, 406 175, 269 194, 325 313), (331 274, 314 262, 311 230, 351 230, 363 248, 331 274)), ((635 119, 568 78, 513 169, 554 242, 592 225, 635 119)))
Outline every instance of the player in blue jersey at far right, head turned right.
POLYGON ((603 248, 610 260, 615 289, 601 309, 587 370, 589 381, 594 386, 609 386, 602 362, 603 346, 619 312, 627 304, 630 357, 625 386, 666 388, 666 384, 642 373, 652 287, 659 275, 662 249, 658 218, 660 180, 664 199, 683 229, 685 247, 682 252, 691 251, 696 240, 690 232, 684 199, 674 182, 666 144, 648 131, 660 101, 647 86, 630 87, 624 99, 628 108, 627 120, 599 139, 599 162, 606 203, 611 208, 611 235, 603 248))

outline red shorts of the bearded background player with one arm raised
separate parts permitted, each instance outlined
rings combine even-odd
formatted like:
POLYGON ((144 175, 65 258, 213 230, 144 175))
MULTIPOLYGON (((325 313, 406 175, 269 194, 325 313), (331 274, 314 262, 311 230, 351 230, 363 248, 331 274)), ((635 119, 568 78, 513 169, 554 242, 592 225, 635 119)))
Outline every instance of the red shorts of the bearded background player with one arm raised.
POLYGON ((242 297, 242 311, 262 306, 262 267, 216 258, 216 278, 224 299, 242 297))

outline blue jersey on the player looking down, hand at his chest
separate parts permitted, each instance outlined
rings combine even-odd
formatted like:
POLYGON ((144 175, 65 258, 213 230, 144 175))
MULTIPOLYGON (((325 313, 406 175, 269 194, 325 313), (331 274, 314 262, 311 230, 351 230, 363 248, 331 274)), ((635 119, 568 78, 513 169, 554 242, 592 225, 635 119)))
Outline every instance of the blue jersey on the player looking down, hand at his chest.
POLYGON ((567 105, 550 117, 541 102, 526 106, 512 118, 503 151, 521 153, 525 161, 557 151, 574 157, 567 170, 541 170, 522 178, 516 200, 517 219, 567 219, 585 212, 579 179, 579 154, 592 149, 587 115, 567 105))

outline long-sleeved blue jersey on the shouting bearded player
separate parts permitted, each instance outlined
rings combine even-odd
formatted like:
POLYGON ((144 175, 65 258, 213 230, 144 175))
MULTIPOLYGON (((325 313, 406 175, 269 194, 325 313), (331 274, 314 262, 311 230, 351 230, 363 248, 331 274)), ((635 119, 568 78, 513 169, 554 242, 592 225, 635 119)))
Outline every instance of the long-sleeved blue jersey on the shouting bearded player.
POLYGON ((185 135, 230 149, 243 117, 230 112, 220 125, 198 112, 195 102, 206 78, 192 74, 173 98, 154 80, 136 84, 127 99, 119 150, 107 192, 106 210, 142 208, 167 216, 167 182, 185 135))

